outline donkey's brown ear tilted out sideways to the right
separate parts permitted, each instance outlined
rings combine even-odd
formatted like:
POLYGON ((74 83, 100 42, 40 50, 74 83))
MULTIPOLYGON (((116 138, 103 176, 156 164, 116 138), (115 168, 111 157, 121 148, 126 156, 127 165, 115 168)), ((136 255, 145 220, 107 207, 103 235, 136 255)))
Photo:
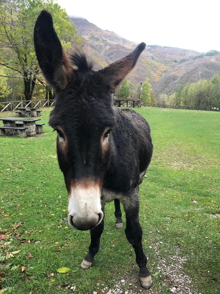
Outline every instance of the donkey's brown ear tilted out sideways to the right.
POLYGON ((114 93, 121 81, 133 69, 138 60, 138 57, 145 49, 145 46, 146 44, 142 42, 134 49, 133 52, 99 71, 108 80, 109 87, 112 93, 114 93))

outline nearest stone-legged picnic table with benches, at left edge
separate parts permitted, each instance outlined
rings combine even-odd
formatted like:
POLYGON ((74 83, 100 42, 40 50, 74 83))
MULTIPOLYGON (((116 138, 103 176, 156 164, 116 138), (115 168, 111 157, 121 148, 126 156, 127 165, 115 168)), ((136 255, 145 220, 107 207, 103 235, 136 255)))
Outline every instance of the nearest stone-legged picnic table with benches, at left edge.
MULTIPOLYGON (((0 118, 0 121, 3 121, 5 128, 1 127, 1 129, 5 129, 6 134, 12 134, 12 130, 17 130, 19 132, 18 124, 16 125, 16 121, 23 122, 23 127, 25 128, 25 136, 31 137, 36 135, 36 121, 40 121, 40 118, 3 117, 0 118)), ((24 133, 21 133, 20 135, 23 136, 24 133)))

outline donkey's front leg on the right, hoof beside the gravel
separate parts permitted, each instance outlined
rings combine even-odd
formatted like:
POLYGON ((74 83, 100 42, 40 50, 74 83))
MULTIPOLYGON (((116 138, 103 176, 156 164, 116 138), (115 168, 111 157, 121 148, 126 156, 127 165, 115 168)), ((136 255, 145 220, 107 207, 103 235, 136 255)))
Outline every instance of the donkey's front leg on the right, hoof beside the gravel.
MULTIPOLYGON (((138 189, 135 194, 138 193, 138 189)), ((136 262, 140 268, 139 276, 141 286, 149 289, 152 285, 151 275, 147 268, 147 258, 142 247, 142 228, 139 222, 139 196, 132 195, 132 199, 127 199, 124 204, 126 213, 126 237, 134 248, 136 254, 136 262), (134 198, 133 198, 134 197, 134 198)))

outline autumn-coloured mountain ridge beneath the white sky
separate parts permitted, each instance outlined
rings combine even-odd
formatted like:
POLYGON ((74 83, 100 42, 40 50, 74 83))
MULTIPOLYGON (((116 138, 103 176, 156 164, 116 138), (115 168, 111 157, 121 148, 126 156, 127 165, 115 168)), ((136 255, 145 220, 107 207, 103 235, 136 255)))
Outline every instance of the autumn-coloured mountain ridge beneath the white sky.
MULTIPOLYGON (((82 36, 82 48, 93 61, 95 70, 126 56, 138 45, 112 31, 99 28, 87 19, 70 19, 82 36)), ((137 83, 148 80, 158 97, 162 93, 174 93, 187 81, 197 82, 201 78, 209 80, 219 71, 219 51, 198 52, 170 46, 147 45, 127 79, 131 94, 137 83)))

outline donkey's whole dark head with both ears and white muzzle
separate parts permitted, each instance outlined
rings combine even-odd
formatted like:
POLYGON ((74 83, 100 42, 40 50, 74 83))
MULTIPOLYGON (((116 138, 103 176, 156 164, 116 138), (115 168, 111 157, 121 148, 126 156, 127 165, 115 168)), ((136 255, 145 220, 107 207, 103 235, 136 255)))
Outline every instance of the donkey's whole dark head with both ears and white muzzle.
POLYGON ((34 28, 34 46, 40 68, 56 93, 49 123, 57 131, 57 157, 69 196, 68 222, 88 230, 103 218, 100 197, 111 156, 111 130, 116 127, 111 93, 135 66, 145 44, 93 71, 83 54, 67 57, 51 15, 42 11, 34 28))

